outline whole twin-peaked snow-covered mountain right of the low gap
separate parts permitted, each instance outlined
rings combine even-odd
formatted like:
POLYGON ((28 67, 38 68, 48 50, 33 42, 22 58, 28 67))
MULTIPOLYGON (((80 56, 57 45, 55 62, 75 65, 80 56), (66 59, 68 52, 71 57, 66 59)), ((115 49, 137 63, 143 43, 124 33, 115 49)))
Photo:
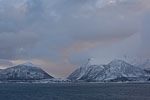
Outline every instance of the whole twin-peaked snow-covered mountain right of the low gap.
POLYGON ((149 74, 143 69, 126 63, 123 60, 113 60, 108 65, 87 64, 74 71, 68 79, 85 81, 144 81, 149 74))

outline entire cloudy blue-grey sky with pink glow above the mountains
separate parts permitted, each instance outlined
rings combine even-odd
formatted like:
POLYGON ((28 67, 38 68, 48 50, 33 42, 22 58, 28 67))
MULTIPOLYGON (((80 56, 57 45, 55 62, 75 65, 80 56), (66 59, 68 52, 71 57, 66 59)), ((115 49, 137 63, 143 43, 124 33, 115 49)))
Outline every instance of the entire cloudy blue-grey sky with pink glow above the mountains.
POLYGON ((0 0, 0 68, 67 77, 95 58, 150 58, 149 0, 0 0))

